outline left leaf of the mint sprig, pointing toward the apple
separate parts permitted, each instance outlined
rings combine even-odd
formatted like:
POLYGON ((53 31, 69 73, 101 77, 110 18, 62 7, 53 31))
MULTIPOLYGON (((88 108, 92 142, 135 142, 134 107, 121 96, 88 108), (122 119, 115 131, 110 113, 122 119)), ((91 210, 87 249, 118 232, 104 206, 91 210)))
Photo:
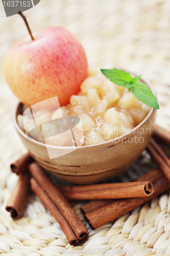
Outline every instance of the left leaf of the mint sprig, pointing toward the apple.
POLYGON ((125 86, 132 83, 132 77, 128 72, 118 69, 101 69, 101 72, 118 86, 125 86))

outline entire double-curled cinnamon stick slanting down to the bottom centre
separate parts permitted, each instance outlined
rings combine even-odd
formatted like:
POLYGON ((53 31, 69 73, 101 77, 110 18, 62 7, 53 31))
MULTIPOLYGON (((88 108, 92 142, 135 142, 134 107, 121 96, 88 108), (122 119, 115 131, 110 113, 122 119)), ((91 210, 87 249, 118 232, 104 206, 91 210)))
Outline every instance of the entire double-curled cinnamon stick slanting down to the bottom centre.
POLYGON ((31 189, 60 224, 71 245, 81 245, 88 239, 88 231, 72 209, 60 189, 36 163, 29 165, 31 189))

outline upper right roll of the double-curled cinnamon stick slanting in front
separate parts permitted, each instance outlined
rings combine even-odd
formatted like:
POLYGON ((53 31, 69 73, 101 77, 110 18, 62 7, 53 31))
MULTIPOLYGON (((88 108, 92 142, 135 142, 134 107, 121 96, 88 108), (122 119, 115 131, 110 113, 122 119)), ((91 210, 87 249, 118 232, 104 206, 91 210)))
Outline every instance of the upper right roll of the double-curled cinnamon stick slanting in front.
POLYGON ((88 231, 79 219, 78 215, 72 209, 71 205, 68 203, 66 198, 63 196, 61 191, 55 186, 55 184, 45 175, 40 166, 36 163, 31 163, 29 165, 29 171, 38 182, 38 184, 43 188, 47 196, 53 201, 53 203, 60 210, 61 214, 64 216, 71 229, 76 234, 76 237, 82 241, 82 244, 88 239, 88 231))

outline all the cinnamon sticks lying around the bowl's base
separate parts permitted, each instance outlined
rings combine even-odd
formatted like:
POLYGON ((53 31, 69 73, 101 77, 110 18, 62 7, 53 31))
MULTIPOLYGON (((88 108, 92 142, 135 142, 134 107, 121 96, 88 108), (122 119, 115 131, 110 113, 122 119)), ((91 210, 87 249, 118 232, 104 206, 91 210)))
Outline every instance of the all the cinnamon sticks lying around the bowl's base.
MULTIPOLYGON (((154 138, 170 144, 170 133, 156 126, 154 138)), ((13 219, 21 218, 30 188, 40 198, 63 229, 70 245, 81 245, 88 231, 68 201, 93 200, 81 207, 92 229, 98 228, 142 205, 170 188, 170 160, 151 138, 147 150, 159 169, 151 170, 133 182, 56 187, 27 153, 11 164, 18 182, 6 209, 13 219)))

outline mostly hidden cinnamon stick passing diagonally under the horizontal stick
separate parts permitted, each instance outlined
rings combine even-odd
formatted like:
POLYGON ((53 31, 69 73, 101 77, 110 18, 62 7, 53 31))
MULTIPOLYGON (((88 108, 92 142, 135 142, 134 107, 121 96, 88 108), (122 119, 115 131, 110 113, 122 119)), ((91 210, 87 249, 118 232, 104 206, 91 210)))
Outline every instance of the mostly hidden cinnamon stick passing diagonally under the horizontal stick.
MULTIPOLYGON (((162 178, 164 175, 159 169, 153 169, 150 170, 150 172, 143 174, 142 176, 138 177, 134 181, 145 181, 145 180, 150 180, 152 182, 156 181, 157 179, 162 178)), ((114 202, 115 200, 95 200, 91 201, 85 205, 83 205, 80 209, 83 214, 86 214, 87 212, 93 211, 95 209, 98 209, 100 207, 103 207, 104 205, 107 205, 109 203, 114 202)))

